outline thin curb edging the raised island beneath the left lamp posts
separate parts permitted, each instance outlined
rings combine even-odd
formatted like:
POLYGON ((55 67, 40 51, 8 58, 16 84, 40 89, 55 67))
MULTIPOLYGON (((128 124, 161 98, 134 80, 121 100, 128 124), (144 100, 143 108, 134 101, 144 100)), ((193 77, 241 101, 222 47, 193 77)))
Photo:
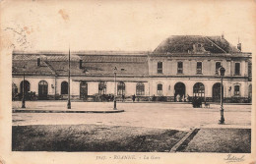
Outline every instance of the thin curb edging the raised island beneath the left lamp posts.
POLYGON ((13 113, 120 113, 124 110, 112 111, 61 111, 61 110, 13 110, 13 113))

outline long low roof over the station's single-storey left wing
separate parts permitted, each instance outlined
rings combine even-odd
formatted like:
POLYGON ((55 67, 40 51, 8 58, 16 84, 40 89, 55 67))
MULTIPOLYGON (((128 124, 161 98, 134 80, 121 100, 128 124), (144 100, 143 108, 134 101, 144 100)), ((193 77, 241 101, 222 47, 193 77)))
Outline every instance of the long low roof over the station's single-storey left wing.
MULTIPOLYGON (((149 71, 148 56, 136 55, 71 55, 72 76, 112 76, 114 67, 117 67, 118 76, 147 76, 149 71), (80 68, 82 60, 82 69, 80 68)), ((13 74, 24 73, 20 69, 26 65, 25 72, 32 75, 55 75, 67 76, 68 55, 67 54, 13 54, 13 74), (37 66, 37 58, 41 59, 41 65, 37 66)))

